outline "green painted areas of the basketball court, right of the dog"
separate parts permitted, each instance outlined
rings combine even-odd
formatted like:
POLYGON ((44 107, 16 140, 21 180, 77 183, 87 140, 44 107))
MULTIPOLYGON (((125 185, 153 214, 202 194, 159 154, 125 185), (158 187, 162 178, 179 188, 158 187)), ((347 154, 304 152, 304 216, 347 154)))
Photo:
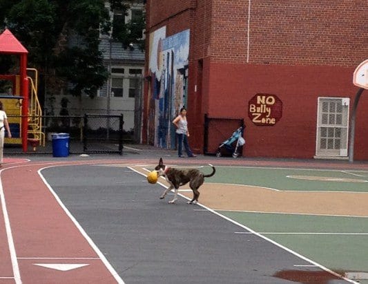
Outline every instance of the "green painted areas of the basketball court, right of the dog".
MULTIPOLYGON (((217 167, 211 182, 252 185, 278 191, 360 193, 358 198, 368 200, 368 171, 217 167)), ((356 205, 351 203, 346 206, 356 205)), ((246 210, 217 212, 318 265, 338 274, 349 273, 350 278, 351 275, 362 277, 356 280, 368 283, 368 214, 324 216, 246 210)), ((237 233, 244 232, 240 230, 237 233)))

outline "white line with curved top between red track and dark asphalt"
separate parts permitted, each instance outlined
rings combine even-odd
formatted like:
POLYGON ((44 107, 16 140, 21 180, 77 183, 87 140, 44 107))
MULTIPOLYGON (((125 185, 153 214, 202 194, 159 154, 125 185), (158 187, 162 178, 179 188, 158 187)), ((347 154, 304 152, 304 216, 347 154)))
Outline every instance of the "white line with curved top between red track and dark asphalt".
POLYGON ((124 284, 123 279, 120 278, 119 274, 117 274, 117 272, 115 271, 115 269, 113 268, 113 266, 110 265, 110 263, 108 262, 108 260, 104 256, 104 254, 102 254, 102 252, 99 250, 99 248, 97 247, 97 245, 95 245, 95 243, 93 243, 93 240, 90 238, 90 236, 88 236, 88 234, 86 233, 86 231, 84 231, 84 229, 81 227, 81 225, 79 225, 78 221, 74 218, 74 216, 72 216, 72 214, 70 213, 70 211, 68 210, 68 208, 66 208, 66 206, 64 205, 64 203, 61 202, 61 199, 59 198, 59 196, 57 196, 57 194, 52 189, 52 187, 50 186, 50 184, 48 184, 48 182, 46 181, 46 179, 43 178, 43 176, 41 174, 41 171, 43 171, 43 169, 48 169, 48 168, 52 168, 52 167, 57 167, 57 165, 49 166, 49 167, 44 167, 44 168, 41 168, 41 169, 39 169, 37 171, 37 173, 41 177, 41 180, 43 180, 43 182, 46 184, 46 187, 48 187, 48 189, 50 190, 50 192, 52 193, 52 195, 55 197, 55 200, 57 200, 57 202, 59 203, 60 207, 62 209, 64 209, 66 215, 70 218, 70 220, 72 220, 72 223, 74 223, 74 225, 77 227, 77 229, 79 229, 81 235, 84 236, 84 238, 87 240, 87 242, 93 248, 93 250, 99 256, 99 258, 101 259, 102 263, 104 263, 104 265, 106 266, 106 268, 108 269, 108 271, 110 272, 110 274, 112 274, 114 276, 114 278, 117 281, 117 283, 124 284))

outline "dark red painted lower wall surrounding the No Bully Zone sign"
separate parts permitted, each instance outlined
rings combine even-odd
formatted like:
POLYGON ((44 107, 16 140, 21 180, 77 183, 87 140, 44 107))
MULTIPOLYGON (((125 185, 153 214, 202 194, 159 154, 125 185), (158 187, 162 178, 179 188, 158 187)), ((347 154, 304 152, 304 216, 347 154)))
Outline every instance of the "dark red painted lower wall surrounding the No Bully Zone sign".
MULTIPOLYGON (((313 158, 316 153, 318 97, 350 97, 350 109, 358 87, 352 84, 354 68, 333 66, 284 66, 253 64, 211 64, 207 113, 210 117, 244 118, 244 155, 313 158), (277 95, 282 100, 282 118, 274 126, 256 126, 248 117, 248 103, 257 93, 277 95)), ((363 93, 356 121, 355 159, 368 159, 366 143, 368 91, 363 93)), ((191 118, 193 127, 200 117, 191 118)), ((229 133, 234 129, 229 129, 229 133)), ((210 129, 211 132, 211 129, 210 129)), ((196 133, 200 135, 200 133, 196 133)), ((198 136, 197 136, 198 138, 198 136)), ((192 138, 194 148, 201 140, 192 138)), ((209 151, 222 142, 212 133, 209 151)))

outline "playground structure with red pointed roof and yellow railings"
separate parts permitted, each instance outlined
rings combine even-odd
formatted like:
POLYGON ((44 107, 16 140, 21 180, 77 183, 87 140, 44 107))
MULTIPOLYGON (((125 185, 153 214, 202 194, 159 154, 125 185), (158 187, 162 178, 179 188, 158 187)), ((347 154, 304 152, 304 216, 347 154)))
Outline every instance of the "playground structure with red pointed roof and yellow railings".
POLYGON ((28 50, 22 46, 10 30, 0 35, 0 54, 19 56, 19 74, 0 74, 0 80, 8 81, 8 90, 0 94, 12 138, 5 138, 5 144, 21 144, 23 152, 28 144, 45 146, 45 133, 42 132, 42 111, 37 97, 38 73, 27 68, 28 50))

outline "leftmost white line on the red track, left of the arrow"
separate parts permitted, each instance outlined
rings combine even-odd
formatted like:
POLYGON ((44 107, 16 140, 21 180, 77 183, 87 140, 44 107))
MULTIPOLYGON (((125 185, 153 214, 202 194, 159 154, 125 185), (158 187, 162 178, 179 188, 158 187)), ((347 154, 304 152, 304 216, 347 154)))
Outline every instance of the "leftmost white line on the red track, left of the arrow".
MULTIPOLYGON (((0 170, 1 172, 4 169, 0 170)), ((12 237, 12 228, 10 227, 10 220, 8 215, 8 209, 6 209, 6 202, 5 202, 5 195, 3 191, 3 182, 0 178, 0 198, 1 198, 1 207, 3 208, 3 216, 4 216, 4 223, 6 228, 6 238, 8 238, 8 246, 9 246, 9 252, 10 252, 10 259, 12 261, 12 270, 14 274, 14 281, 16 284, 21 284, 21 274, 19 272, 19 265, 17 261, 17 253, 15 252, 14 247, 14 240, 12 237)))

